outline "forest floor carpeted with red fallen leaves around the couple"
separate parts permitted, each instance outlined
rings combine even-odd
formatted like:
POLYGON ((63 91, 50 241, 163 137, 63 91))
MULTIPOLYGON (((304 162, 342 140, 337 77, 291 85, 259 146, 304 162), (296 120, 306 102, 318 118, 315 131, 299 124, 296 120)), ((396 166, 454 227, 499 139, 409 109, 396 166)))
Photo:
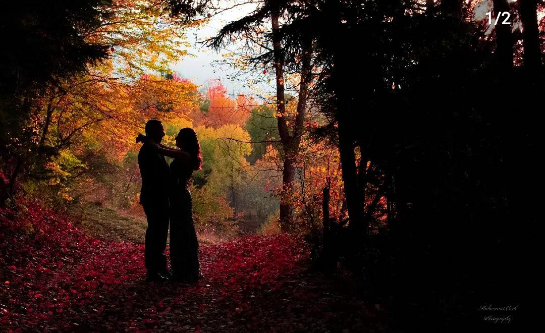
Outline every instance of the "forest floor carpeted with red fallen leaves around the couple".
POLYGON ((387 330, 341 277, 307 273, 307 251, 286 235, 201 246, 196 286, 145 282, 143 249, 38 205, 0 210, 0 331, 387 330))

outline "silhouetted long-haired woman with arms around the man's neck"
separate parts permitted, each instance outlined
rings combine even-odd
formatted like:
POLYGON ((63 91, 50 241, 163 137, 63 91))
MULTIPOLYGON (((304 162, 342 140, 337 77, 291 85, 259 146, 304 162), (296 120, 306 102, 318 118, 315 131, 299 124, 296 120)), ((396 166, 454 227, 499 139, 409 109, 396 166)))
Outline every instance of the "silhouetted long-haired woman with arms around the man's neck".
POLYGON ((156 144, 145 135, 138 135, 137 141, 146 142, 161 155, 173 158, 171 169, 171 220, 170 254, 172 275, 175 281, 196 282, 201 275, 199 245, 191 211, 189 182, 194 170, 201 169, 201 146, 195 131, 183 128, 176 136, 176 147, 156 144))

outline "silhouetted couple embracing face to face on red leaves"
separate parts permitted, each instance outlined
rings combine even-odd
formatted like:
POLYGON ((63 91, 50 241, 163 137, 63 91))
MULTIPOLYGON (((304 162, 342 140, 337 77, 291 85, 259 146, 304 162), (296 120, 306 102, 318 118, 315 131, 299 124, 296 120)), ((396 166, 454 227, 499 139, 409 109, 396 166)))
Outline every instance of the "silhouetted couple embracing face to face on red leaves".
POLYGON ((201 168, 201 147, 190 128, 178 133, 179 149, 161 144, 164 136, 161 122, 152 119, 146 123, 146 135, 136 138, 136 142, 143 143, 138 166, 142 175, 140 203, 148 219, 146 280, 196 282, 202 275, 188 186, 193 170, 201 168), (174 159, 170 166, 165 156, 174 159), (165 256, 169 221, 172 273, 165 256))

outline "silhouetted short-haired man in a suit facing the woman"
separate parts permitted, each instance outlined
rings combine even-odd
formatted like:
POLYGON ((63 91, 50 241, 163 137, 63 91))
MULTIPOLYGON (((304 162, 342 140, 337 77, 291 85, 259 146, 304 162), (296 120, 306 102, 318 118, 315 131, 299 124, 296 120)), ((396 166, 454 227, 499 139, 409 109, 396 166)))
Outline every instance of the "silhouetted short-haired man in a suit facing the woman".
MULTIPOLYGON (((155 143, 160 143, 165 136, 163 125, 152 119, 146 123, 146 135, 155 143)), ((165 157, 153 147, 144 143, 138 153, 138 166, 142 175, 140 203, 146 212, 148 229, 146 230, 146 269, 148 281, 166 281, 169 209, 168 178, 170 169, 165 157)))

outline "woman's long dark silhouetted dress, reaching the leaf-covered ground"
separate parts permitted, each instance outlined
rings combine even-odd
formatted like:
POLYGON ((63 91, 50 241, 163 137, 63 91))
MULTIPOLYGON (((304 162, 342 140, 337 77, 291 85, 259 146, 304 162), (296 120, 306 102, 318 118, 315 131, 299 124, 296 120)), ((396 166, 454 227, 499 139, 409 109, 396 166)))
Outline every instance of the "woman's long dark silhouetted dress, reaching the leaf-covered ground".
POLYGON ((195 282, 201 276, 199 244, 191 211, 189 181, 193 170, 178 159, 171 163, 170 253, 175 280, 195 282))

